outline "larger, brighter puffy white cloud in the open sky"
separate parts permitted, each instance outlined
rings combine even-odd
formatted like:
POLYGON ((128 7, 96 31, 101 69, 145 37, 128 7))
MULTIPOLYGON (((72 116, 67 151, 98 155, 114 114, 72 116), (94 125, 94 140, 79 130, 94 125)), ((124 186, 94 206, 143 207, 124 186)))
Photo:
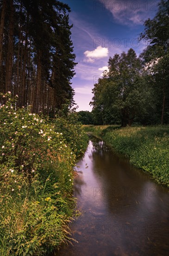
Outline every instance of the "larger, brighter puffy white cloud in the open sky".
POLYGON ((94 62, 95 59, 101 59, 108 56, 108 48, 98 46, 93 51, 86 51, 84 52, 85 56, 88 59, 84 59, 84 62, 94 62))

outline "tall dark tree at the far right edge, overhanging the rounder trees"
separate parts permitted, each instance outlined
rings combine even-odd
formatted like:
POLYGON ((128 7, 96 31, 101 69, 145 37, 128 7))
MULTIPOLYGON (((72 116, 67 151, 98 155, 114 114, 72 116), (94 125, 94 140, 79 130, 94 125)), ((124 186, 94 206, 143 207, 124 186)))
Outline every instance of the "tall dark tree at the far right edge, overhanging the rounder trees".
POLYGON ((169 121, 169 1, 159 2, 156 16, 144 22, 144 32, 140 40, 148 40, 149 45, 141 56, 148 63, 154 89, 156 106, 161 113, 161 124, 169 121))

